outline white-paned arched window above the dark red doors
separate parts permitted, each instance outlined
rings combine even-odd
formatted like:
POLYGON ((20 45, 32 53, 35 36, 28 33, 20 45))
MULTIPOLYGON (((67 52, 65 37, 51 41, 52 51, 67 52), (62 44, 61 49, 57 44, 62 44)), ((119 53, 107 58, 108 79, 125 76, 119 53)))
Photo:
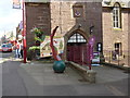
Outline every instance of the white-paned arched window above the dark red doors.
POLYGON ((82 35, 75 33, 73 36, 70 36, 68 42, 87 42, 87 40, 82 35))

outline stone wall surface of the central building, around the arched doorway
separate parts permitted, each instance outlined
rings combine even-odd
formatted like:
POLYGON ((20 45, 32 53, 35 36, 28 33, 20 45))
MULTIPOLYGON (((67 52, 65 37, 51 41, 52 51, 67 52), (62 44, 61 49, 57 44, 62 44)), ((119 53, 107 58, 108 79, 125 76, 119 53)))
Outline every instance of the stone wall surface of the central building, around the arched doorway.
POLYGON ((26 3, 26 17, 27 47, 34 45, 34 35, 30 34, 34 26, 42 27, 46 35, 50 35, 55 26, 60 26, 56 36, 65 38, 64 59, 66 59, 67 40, 75 30, 80 32, 88 39, 90 37, 90 27, 93 25, 92 35, 95 35, 96 42, 103 41, 101 2, 26 3), (74 4, 83 7, 82 17, 74 17, 74 4))

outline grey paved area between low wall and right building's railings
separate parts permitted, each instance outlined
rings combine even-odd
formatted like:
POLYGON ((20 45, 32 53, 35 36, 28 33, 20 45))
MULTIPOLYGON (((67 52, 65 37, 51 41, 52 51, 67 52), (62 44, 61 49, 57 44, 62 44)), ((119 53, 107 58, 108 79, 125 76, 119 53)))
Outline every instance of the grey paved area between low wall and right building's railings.
POLYGON ((92 69, 98 73, 96 83, 109 83, 128 78, 128 74, 125 73, 125 70, 117 68, 100 65, 92 66, 92 69))

